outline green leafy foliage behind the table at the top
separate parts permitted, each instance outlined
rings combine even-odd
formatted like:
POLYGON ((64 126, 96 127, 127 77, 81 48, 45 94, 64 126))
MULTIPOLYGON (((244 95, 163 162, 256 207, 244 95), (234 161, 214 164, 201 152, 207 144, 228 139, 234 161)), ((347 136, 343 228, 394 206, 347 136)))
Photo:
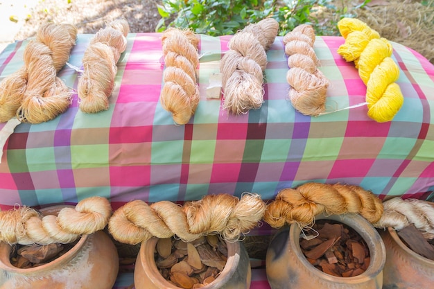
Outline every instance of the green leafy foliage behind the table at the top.
MULTIPOLYGON (((279 35, 285 35, 295 26, 311 24, 318 35, 336 35, 339 17, 354 17, 347 7, 336 8, 332 0, 162 0, 157 5, 160 19, 157 32, 168 27, 191 28, 196 33, 211 36, 232 35, 250 23, 267 17, 279 24, 279 35), (332 11, 338 15, 327 25, 319 23, 317 12, 332 11)), ((343 1, 342 1, 343 2, 343 1)), ((362 8, 365 0, 356 8, 362 8)))

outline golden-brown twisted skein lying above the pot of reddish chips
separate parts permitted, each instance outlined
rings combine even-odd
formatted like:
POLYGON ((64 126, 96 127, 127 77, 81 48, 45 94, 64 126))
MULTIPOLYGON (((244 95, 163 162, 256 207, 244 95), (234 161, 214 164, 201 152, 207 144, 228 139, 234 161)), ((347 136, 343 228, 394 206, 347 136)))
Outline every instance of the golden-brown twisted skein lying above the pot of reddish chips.
POLYGON ((383 214, 383 204, 376 195, 360 186, 306 183, 296 189, 279 191, 275 200, 267 205, 263 219, 275 228, 295 222, 309 227, 320 213, 359 213, 375 223, 383 214))

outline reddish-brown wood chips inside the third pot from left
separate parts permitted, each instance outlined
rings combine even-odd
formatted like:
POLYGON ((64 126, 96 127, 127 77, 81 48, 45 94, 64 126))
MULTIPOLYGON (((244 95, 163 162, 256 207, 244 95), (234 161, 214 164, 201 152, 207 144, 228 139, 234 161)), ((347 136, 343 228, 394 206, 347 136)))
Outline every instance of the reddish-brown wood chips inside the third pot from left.
POLYGON ((302 252, 309 263, 324 273, 354 277, 365 272, 370 264, 365 240, 347 225, 317 220, 305 234, 306 238, 300 238, 302 252))

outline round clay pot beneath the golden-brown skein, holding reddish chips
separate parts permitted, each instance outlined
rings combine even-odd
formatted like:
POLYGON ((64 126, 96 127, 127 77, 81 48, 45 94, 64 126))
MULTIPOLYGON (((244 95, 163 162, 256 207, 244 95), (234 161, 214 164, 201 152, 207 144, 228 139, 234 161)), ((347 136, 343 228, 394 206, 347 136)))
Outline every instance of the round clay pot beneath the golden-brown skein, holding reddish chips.
POLYGON ((355 277, 335 277, 315 268, 300 249, 299 225, 277 231, 266 255, 266 273, 272 289, 290 288, 378 288, 383 285, 385 247, 370 222, 356 214, 317 216, 316 220, 335 220, 354 229, 370 250, 370 265, 355 277))

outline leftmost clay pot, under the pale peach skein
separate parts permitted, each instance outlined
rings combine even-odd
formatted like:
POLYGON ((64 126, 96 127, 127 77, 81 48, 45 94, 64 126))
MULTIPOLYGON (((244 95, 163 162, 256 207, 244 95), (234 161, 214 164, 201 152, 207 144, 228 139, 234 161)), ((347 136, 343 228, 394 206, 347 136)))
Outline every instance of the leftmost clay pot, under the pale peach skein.
MULTIPOLYGON (((65 206, 40 211, 56 215, 65 206)), ((0 289, 112 289, 119 258, 103 231, 85 235, 67 253, 44 265, 20 269, 10 263, 12 247, 0 243, 0 289)))

